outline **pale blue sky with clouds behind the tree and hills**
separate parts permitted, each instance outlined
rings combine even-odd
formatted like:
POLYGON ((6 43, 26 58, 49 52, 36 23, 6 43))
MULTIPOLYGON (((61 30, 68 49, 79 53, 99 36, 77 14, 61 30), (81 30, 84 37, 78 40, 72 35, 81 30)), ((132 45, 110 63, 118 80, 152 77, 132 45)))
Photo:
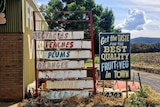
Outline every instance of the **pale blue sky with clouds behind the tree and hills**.
MULTIPOLYGON (((37 5, 49 0, 35 0, 37 5)), ((102 7, 111 9, 115 17, 114 26, 122 32, 130 33, 131 38, 160 38, 159 0, 95 0, 102 7)))

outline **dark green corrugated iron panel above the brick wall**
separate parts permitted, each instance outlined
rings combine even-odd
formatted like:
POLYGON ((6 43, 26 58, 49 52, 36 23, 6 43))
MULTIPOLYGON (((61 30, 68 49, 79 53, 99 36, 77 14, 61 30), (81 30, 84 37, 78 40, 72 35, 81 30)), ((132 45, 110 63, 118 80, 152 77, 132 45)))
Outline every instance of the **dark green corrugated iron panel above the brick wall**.
POLYGON ((6 24, 0 32, 22 32, 22 0, 6 0, 6 24))

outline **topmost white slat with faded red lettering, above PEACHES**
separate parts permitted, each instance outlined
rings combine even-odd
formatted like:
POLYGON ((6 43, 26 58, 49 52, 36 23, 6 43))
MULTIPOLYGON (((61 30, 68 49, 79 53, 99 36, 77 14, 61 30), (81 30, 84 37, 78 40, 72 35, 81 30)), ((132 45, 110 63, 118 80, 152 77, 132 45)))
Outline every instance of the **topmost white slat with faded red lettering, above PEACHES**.
POLYGON ((34 31, 36 40, 84 39, 84 31, 34 31))

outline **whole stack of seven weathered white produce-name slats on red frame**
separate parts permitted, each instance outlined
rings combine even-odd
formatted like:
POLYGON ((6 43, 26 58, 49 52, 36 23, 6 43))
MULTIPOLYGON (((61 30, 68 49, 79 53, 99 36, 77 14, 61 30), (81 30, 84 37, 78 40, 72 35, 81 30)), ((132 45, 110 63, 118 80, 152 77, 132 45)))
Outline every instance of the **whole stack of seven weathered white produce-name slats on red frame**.
POLYGON ((92 50, 91 41, 84 40, 84 31, 35 31, 33 39, 36 39, 37 79, 45 80, 41 96, 48 99, 89 96, 94 81, 86 78, 84 60, 92 58, 92 50))

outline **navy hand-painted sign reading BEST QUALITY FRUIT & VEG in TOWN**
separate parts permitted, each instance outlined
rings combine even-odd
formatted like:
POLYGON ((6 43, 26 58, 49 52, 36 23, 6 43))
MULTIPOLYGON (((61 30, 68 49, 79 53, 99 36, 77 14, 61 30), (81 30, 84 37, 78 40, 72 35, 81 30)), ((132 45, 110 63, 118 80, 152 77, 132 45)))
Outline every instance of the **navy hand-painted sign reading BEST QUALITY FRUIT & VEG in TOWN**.
POLYGON ((100 33, 102 80, 130 79, 130 34, 100 33))

